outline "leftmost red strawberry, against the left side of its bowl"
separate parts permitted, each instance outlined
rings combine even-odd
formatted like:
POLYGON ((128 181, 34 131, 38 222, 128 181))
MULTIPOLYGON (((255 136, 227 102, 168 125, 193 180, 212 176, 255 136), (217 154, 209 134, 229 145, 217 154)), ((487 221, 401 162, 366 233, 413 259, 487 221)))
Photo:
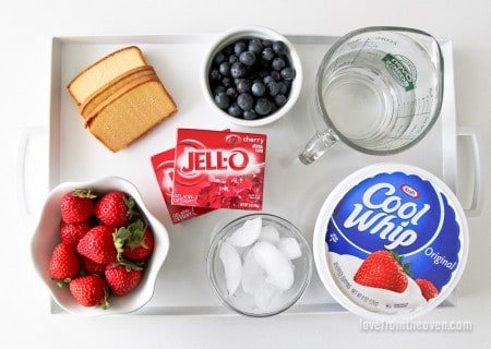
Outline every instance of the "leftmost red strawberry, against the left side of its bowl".
POLYGON ((69 282, 80 272, 81 262, 75 250, 64 243, 55 246, 49 261, 49 273, 59 286, 69 282))

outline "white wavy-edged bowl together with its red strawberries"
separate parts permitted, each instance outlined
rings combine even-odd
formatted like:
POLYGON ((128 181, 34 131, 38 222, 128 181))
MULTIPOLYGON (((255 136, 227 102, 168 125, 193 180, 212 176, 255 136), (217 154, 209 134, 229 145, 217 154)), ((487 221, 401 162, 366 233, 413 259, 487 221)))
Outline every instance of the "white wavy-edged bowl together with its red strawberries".
POLYGON ((51 190, 31 248, 34 266, 58 305, 91 316, 145 305, 169 239, 137 189, 107 177, 51 190))

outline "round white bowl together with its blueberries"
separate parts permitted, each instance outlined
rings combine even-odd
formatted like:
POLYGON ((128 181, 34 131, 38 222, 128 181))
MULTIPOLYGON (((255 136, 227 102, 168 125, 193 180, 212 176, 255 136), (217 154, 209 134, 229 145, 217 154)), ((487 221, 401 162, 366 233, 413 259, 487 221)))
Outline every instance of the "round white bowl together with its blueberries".
POLYGON ((294 45, 263 26, 221 34, 203 64, 205 98, 218 115, 244 127, 280 119, 298 99, 301 84, 301 62, 294 45))

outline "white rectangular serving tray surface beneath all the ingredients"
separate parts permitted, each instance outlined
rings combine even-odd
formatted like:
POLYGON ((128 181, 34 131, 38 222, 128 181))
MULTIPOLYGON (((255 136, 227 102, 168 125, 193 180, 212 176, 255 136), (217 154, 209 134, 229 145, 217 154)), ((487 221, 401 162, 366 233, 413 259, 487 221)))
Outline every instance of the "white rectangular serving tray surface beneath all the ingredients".
MULTIPOLYGON (((336 37, 287 35, 303 64, 303 87, 294 109, 278 122, 254 129, 225 123, 209 108, 200 85, 204 56, 215 35, 164 35, 124 37, 57 37, 52 40, 52 80, 49 120, 49 189, 63 181, 87 181, 120 176, 132 181, 151 212, 167 227, 170 251, 155 294, 136 314, 232 314, 215 296, 206 276, 206 253, 214 231, 247 214, 219 209, 172 225, 159 192, 151 156, 172 148, 177 128, 250 131, 267 134, 263 212, 289 219, 312 241, 318 212, 331 190, 356 169, 374 163, 404 163, 440 177, 455 191, 456 117, 452 43, 442 40, 445 60, 444 104, 439 121, 423 141, 394 156, 375 157, 337 144, 316 163, 297 160, 299 149, 314 133, 307 117, 315 71, 336 37), (133 143, 112 154, 83 128, 82 118, 67 93, 67 84, 88 64, 121 47, 137 45, 175 98, 179 111, 133 143)), ((453 304, 451 300, 445 302, 453 304)), ((313 272, 307 292, 288 313, 328 313, 344 309, 313 272)), ((51 312, 62 312, 51 302, 51 312)))

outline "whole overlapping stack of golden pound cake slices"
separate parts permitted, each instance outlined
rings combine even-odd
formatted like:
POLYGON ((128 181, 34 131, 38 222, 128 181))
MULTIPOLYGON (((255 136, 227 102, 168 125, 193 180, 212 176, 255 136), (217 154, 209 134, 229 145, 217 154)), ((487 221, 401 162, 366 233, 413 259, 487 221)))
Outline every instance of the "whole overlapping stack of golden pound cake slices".
POLYGON ((177 111, 155 69, 135 46, 98 60, 67 88, 85 128, 113 153, 177 111))

